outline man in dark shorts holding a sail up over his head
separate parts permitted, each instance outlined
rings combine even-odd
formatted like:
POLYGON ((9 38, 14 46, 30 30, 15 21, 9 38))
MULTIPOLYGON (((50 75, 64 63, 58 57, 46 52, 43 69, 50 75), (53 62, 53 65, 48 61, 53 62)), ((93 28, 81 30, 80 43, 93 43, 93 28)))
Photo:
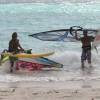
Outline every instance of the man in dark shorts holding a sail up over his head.
POLYGON ((84 68, 84 62, 87 60, 88 64, 91 66, 91 42, 93 42, 94 37, 88 36, 87 30, 83 31, 83 37, 78 38, 77 33, 75 38, 80 40, 82 43, 82 54, 81 54, 81 66, 84 68))

